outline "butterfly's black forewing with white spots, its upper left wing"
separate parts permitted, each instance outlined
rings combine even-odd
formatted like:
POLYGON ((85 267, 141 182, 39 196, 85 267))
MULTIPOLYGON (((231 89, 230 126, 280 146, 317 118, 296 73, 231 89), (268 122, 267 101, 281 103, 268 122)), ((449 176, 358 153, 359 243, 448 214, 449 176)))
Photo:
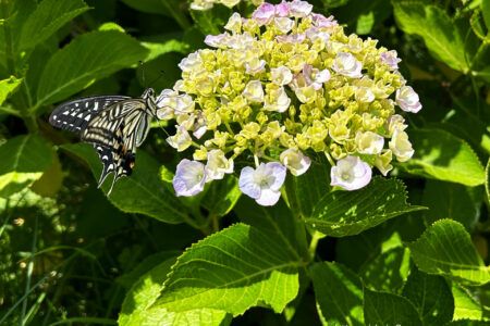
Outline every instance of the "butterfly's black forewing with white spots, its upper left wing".
POLYGON ((131 99, 125 96, 97 96, 73 100, 59 105, 49 116, 54 127, 82 135, 88 123, 102 110, 131 99))

